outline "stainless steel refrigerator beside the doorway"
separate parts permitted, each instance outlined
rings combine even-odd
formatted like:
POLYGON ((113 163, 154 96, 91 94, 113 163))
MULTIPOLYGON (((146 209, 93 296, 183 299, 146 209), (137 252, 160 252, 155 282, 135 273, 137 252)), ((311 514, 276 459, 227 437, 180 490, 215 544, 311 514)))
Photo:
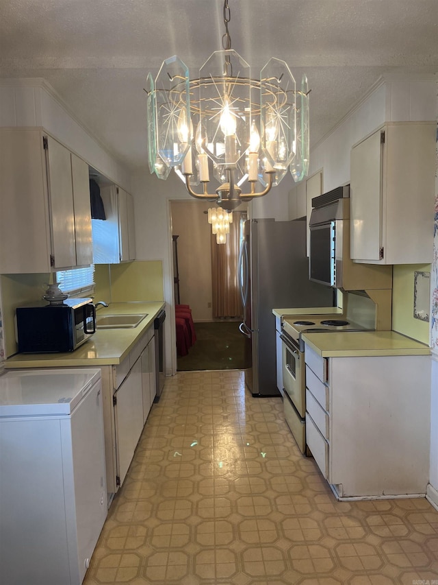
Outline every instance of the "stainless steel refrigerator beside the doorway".
POLYGON ((246 337, 245 383, 253 396, 279 396, 272 309, 331 307, 333 289, 309 280, 305 219, 248 219, 239 254, 246 337))

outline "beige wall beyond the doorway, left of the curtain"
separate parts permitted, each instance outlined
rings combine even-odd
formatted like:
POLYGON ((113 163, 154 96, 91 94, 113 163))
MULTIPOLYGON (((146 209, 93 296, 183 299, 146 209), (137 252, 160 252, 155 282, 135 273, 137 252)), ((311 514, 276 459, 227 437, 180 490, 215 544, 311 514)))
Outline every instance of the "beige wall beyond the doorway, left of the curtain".
POLYGON ((211 225, 204 211, 211 202, 172 201, 172 235, 178 235, 179 300, 194 321, 211 321, 211 225))

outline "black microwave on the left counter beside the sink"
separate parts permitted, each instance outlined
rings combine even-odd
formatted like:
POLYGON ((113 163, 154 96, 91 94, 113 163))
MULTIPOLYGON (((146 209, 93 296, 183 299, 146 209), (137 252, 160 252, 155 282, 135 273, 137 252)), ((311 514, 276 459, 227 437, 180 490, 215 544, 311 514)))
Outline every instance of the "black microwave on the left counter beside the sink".
POLYGON ((96 331, 96 309, 90 298, 70 298, 60 304, 16 308, 20 353, 74 351, 96 331))

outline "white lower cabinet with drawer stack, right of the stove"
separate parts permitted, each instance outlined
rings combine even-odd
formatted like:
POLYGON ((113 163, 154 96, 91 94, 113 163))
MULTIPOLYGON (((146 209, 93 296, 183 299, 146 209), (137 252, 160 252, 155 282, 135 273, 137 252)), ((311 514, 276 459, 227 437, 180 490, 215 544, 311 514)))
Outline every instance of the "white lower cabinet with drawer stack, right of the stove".
POLYGON ((305 361, 307 445, 336 497, 426 494, 430 357, 324 358, 306 344, 305 361))

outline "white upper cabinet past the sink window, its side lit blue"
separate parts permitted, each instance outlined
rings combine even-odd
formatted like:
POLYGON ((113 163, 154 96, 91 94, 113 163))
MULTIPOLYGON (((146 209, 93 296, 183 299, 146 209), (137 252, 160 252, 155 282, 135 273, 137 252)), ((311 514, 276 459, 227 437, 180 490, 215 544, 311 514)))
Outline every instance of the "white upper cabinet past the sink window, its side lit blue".
POLYGON ((93 262, 118 264, 136 259, 132 195, 112 184, 101 187, 106 219, 92 220, 93 262))

